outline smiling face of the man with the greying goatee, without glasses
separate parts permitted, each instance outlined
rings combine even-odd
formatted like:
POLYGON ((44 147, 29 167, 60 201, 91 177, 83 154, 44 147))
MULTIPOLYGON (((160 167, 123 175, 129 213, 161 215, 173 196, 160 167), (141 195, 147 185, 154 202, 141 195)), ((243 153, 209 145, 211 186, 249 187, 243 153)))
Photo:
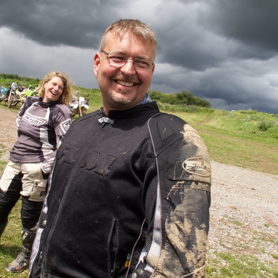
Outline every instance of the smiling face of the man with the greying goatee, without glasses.
MULTIPOLYGON (((103 50, 122 54, 130 59, 154 60, 153 46, 132 32, 126 33, 122 38, 113 33, 108 34, 103 50)), ((115 65, 107 61, 107 55, 103 52, 96 53, 94 72, 105 111, 130 109, 142 101, 150 86, 153 70, 154 65, 150 71, 135 69, 131 60, 127 60, 123 66, 115 65)))

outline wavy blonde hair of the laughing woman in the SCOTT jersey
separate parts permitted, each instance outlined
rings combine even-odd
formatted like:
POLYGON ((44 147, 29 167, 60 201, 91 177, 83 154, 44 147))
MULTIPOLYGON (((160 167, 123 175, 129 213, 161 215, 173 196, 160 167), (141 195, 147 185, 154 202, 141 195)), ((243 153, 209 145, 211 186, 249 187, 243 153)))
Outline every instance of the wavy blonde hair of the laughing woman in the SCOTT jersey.
POLYGON ((41 84, 37 90, 39 96, 41 96, 43 98, 44 96, 44 92, 45 92, 45 83, 47 83, 48 81, 50 81, 50 79, 52 79, 53 77, 59 77, 61 78, 61 80, 64 83, 64 89, 63 92, 61 94, 61 96, 59 97, 59 101, 65 105, 69 105, 69 103, 72 102, 72 86, 74 85, 74 82, 72 81, 72 78, 69 77, 65 72, 61 72, 61 71, 52 71, 49 72, 41 81, 41 84))

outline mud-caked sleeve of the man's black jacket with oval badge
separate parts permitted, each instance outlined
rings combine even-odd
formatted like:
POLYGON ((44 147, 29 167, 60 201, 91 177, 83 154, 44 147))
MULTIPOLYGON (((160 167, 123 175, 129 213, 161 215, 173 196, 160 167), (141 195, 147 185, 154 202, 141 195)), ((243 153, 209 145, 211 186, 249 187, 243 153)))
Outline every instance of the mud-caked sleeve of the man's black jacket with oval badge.
POLYGON ((211 202, 207 148, 190 125, 173 115, 151 119, 149 128, 157 192, 154 209, 146 211, 145 254, 134 272, 138 278, 204 277, 211 202))

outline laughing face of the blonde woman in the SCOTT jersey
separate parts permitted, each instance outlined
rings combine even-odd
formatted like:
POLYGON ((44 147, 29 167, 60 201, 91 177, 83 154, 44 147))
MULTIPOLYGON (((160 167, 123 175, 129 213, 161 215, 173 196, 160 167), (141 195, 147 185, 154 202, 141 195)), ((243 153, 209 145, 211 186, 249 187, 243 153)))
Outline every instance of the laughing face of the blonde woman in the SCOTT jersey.
POLYGON ((44 84, 43 102, 53 102, 60 98, 63 93, 64 83, 60 77, 55 76, 44 84))

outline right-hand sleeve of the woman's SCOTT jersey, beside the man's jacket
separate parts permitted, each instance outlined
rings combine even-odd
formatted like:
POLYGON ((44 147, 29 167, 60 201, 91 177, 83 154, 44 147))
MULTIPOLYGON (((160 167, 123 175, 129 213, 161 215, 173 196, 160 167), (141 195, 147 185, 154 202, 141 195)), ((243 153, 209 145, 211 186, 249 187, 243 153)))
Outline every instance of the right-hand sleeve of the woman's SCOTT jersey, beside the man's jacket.
POLYGON ((50 173, 51 167, 53 165, 56 156, 57 149, 61 145, 61 140, 65 136, 65 133, 67 132, 69 126, 72 123, 71 113, 66 106, 64 109, 57 109, 57 110, 58 111, 53 116, 57 144, 56 144, 55 151, 41 163, 41 169, 45 174, 50 173))

